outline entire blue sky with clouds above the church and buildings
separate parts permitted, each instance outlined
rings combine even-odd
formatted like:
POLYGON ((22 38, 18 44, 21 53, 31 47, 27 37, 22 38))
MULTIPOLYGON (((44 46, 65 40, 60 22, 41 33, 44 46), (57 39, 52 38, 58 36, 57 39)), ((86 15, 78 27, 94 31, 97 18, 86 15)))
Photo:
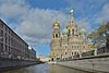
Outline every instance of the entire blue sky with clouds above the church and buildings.
POLYGON ((61 31, 74 10, 75 23, 89 33, 109 21, 109 0, 0 0, 0 19, 31 47, 37 57, 50 52, 52 23, 57 19, 61 31))

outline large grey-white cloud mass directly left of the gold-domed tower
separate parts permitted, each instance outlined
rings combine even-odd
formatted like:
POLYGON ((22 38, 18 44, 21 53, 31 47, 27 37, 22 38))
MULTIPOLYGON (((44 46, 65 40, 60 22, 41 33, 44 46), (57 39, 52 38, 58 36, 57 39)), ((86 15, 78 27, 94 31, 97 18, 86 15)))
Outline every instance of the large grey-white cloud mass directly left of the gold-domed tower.
POLYGON ((62 26, 65 26, 68 15, 64 13, 48 9, 32 9, 15 31, 28 38, 36 38, 46 42, 46 40, 49 41, 48 38, 50 39, 52 23, 56 19, 60 21, 62 26), (45 41, 43 40, 44 37, 46 37, 45 41))

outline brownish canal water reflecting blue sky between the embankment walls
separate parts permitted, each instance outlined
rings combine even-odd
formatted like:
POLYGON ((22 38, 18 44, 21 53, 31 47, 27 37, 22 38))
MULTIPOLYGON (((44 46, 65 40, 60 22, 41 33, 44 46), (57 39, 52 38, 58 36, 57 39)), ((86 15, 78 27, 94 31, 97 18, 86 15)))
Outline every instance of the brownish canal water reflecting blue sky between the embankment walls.
POLYGON ((3 73, 87 73, 56 64, 37 64, 17 70, 10 70, 3 73))

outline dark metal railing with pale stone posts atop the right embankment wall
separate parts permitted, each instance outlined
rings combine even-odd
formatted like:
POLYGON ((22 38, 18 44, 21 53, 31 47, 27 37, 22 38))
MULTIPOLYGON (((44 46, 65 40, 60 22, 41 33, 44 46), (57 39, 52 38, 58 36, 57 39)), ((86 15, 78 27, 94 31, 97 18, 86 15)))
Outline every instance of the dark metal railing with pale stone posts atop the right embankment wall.
POLYGON ((106 52, 109 53, 109 51, 105 51, 105 49, 106 49, 106 47, 101 47, 101 48, 90 50, 90 51, 87 51, 87 52, 82 52, 81 54, 77 53, 77 54, 74 54, 74 56, 71 56, 71 57, 68 57, 68 58, 60 58, 57 61, 71 61, 71 60, 75 60, 75 59, 97 57, 97 56, 99 56, 99 54, 101 56, 106 52))

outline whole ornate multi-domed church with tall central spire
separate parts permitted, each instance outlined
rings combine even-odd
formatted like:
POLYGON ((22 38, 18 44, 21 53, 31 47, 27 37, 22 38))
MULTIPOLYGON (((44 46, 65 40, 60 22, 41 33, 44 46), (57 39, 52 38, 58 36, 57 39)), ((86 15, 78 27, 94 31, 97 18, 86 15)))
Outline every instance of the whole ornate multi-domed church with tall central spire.
POLYGON ((50 41, 51 60, 73 58, 75 54, 81 54, 90 49, 90 44, 85 38, 86 29, 84 26, 78 29, 73 17, 73 10, 70 11, 70 22, 62 33, 58 21, 53 22, 52 28, 50 41))

